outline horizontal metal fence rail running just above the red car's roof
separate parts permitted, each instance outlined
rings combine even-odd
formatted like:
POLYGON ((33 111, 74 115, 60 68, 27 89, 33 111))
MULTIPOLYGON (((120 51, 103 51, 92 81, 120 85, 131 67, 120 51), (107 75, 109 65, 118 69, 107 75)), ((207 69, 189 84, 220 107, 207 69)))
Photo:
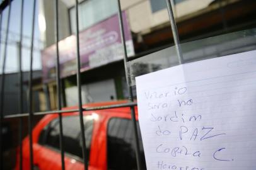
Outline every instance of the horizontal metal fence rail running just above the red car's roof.
MULTIPOLYGON (((104 109, 112 109, 112 108, 125 108, 125 107, 131 107, 131 106, 137 106, 137 102, 130 102, 130 103, 122 103, 118 105, 107 105, 107 106, 96 106, 96 107, 88 107, 83 108, 83 111, 93 111, 93 110, 104 110, 104 109)), ((77 112, 78 109, 73 110, 52 110, 52 111, 39 111, 33 113, 33 116, 37 115, 50 115, 50 114, 56 114, 56 113, 71 113, 71 112, 77 112)), ((21 118, 28 116, 29 113, 22 113, 22 114, 15 114, 15 115, 6 115, 4 118, 21 118)))

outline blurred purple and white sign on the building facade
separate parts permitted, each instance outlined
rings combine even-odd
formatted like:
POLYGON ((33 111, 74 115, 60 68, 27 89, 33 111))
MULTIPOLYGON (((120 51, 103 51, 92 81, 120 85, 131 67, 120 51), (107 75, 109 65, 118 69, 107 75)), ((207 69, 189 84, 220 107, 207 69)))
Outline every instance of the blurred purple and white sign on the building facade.
MULTIPOLYGON (((125 43, 127 55, 134 55, 131 31, 125 13, 125 43)), ((124 57, 119 30, 118 16, 112 16, 79 33, 81 71, 121 60, 124 57)), ((76 36, 71 35, 59 42, 61 77, 76 74, 76 36)), ((44 82, 55 78, 56 45, 42 50, 42 69, 44 82)))

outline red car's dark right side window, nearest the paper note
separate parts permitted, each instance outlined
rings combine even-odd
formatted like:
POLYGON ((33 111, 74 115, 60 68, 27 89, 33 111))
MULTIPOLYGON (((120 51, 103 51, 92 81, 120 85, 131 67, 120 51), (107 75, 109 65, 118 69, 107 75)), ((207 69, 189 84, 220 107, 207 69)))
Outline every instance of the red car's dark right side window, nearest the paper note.
MULTIPOLYGON (((137 123, 139 129, 139 123, 137 123)), ((143 143, 139 131, 140 156, 142 169, 146 169, 143 152, 143 143)), ((134 132, 132 120, 125 118, 112 118, 108 122, 107 130, 107 158, 110 170, 137 169, 134 149, 134 132)))

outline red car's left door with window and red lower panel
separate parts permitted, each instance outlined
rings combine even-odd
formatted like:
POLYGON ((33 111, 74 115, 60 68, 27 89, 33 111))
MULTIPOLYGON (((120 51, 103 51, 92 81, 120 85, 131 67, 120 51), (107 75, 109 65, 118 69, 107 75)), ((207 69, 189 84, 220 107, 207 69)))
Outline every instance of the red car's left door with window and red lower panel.
MULTIPOLYGON (((84 116, 84 126, 86 152, 90 156, 93 131, 93 119, 90 115, 84 116)), ((81 130, 78 116, 63 116, 62 129, 66 169, 83 169, 81 130)), ((59 133, 59 118, 52 120, 40 133, 38 144, 34 145, 35 150, 37 150, 34 162, 38 169, 61 169, 59 133)))

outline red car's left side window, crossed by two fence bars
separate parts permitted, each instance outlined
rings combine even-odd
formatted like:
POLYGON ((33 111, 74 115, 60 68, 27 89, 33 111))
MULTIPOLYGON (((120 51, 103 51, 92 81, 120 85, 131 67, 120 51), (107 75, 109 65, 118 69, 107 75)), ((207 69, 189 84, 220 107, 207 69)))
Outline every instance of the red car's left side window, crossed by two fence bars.
MULTIPOLYGON (((83 158, 81 130, 78 116, 63 116, 63 148, 67 154, 83 158)), ((86 139, 86 152, 89 156, 91 145, 91 134, 93 132, 92 116, 84 116, 84 135, 86 139)), ((59 149, 59 118, 52 120, 40 133, 38 143, 59 149)), ((89 159, 88 159, 89 160, 89 159)))

